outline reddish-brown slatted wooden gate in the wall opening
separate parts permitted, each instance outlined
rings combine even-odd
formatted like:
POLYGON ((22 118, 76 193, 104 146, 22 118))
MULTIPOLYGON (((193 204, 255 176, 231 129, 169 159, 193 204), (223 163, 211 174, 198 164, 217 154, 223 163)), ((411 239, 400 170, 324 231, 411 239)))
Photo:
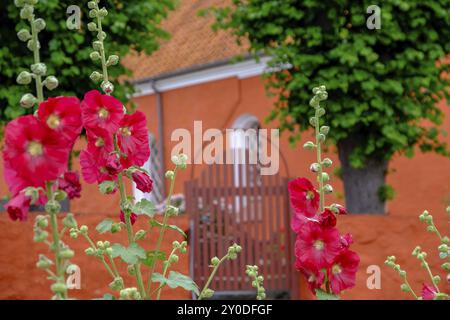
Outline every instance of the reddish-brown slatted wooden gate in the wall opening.
POLYGON ((213 164, 185 183, 190 273, 197 284, 202 287, 207 281, 212 257, 224 256, 234 242, 243 248, 238 259, 220 266, 210 285, 215 298, 255 299, 245 274, 247 264, 260 268, 268 298, 298 296, 288 179, 261 175, 259 169, 250 164, 213 164))

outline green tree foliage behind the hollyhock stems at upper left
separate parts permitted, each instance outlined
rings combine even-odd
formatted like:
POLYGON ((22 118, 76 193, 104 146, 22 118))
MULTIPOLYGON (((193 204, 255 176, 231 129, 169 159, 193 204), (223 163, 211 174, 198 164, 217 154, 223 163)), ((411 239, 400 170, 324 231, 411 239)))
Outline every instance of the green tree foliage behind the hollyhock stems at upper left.
MULTIPOLYGON (((66 10, 74 1, 46 0, 36 5, 36 15, 45 19, 47 27, 39 34, 41 58, 47 64, 48 74, 55 74, 60 86, 53 96, 75 95, 82 99, 85 92, 95 87, 89 79, 94 70, 89 54, 92 51, 93 34, 87 30, 88 8, 79 4, 82 17, 80 30, 68 30, 66 10)), ((104 30, 108 34, 106 49, 120 57, 130 51, 151 54, 158 48, 160 39, 168 38, 168 33, 160 28, 168 11, 174 9, 175 0, 102 0, 100 5, 109 10, 105 18, 104 30)), ((33 63, 33 56, 16 35, 27 27, 19 18, 19 10, 14 1, 0 2, 0 125, 4 125, 25 113, 19 100, 26 92, 24 86, 16 83, 16 77, 33 63)), ((131 76, 130 70, 119 65, 111 69, 111 80, 119 76, 131 76)), ((114 95, 124 103, 126 95, 132 92, 129 83, 115 83, 114 95)))

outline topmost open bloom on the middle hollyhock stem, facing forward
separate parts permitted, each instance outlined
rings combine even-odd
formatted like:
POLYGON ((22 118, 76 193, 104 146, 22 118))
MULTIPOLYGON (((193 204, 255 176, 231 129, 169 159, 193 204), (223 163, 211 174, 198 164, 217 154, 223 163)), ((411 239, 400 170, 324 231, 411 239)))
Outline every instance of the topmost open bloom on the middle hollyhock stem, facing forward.
POLYGON ((113 134, 123 118, 123 105, 114 97, 91 90, 81 103, 81 115, 87 130, 102 128, 113 134))

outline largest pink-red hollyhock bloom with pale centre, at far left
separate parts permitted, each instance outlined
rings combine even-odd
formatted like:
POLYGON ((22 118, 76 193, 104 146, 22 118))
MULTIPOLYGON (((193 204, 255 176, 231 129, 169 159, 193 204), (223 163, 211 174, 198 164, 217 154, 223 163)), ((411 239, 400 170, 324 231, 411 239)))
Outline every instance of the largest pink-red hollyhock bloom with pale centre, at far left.
MULTIPOLYGON (((16 172, 15 177, 27 181, 27 186, 38 187, 56 180, 66 170, 68 147, 60 134, 36 117, 22 116, 6 126, 3 158, 8 168, 16 172)), ((9 179, 14 177, 11 172, 7 175, 9 179)))

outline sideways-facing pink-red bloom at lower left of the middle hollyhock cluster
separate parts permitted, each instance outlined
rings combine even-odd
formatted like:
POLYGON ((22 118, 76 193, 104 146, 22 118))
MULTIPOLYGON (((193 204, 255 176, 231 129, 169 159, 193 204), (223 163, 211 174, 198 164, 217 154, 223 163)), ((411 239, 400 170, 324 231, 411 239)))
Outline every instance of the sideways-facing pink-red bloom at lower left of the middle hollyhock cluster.
POLYGON ((81 174, 87 183, 115 180, 106 169, 105 153, 92 145, 80 153, 81 174))

